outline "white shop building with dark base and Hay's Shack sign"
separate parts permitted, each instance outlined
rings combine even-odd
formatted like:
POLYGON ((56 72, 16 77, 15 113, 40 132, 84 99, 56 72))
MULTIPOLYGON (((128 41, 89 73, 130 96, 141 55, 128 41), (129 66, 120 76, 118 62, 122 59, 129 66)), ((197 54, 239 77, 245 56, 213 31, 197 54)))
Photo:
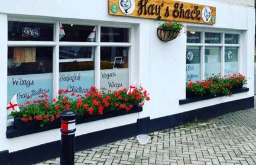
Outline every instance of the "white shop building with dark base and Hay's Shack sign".
POLYGON ((0 161, 33 164, 59 156, 58 127, 14 126, 7 110, 14 96, 21 105, 42 94, 53 100, 60 88, 70 97, 85 95, 91 87, 147 89, 150 101, 142 108, 77 123, 76 150, 254 107, 253 5, 213 0, 3 2, 0 161), (184 26, 176 37, 159 29, 170 19, 184 26), (228 96, 187 94, 190 82, 239 74, 247 83, 228 96))

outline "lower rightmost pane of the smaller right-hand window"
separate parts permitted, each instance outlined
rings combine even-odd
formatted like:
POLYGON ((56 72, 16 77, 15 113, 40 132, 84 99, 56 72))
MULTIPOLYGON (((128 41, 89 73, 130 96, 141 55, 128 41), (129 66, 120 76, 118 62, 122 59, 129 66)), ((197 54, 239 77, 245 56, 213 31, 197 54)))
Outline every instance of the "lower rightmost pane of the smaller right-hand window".
POLYGON ((225 74, 238 73, 238 47, 225 47, 225 74))

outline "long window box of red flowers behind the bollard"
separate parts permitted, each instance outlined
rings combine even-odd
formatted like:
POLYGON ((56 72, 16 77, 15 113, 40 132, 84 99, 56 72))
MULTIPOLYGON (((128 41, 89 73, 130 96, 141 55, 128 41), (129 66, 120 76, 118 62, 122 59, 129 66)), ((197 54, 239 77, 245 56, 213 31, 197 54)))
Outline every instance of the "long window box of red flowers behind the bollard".
POLYGON ((85 95, 59 90, 59 97, 49 101, 47 94, 41 95, 40 100, 27 101, 21 111, 12 111, 14 127, 17 129, 28 127, 60 126, 60 113, 73 110, 77 113, 77 123, 86 123, 113 114, 127 114, 139 110, 150 97, 142 87, 129 87, 129 90, 101 91, 91 87, 85 95), (54 126, 55 125, 55 126, 54 126))

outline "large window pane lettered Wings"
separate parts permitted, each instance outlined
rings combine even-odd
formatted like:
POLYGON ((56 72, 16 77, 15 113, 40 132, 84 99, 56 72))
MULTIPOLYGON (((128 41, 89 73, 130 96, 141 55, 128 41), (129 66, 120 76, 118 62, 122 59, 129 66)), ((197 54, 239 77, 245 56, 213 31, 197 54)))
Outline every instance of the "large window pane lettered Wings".
POLYGON ((8 47, 8 102, 17 94, 18 104, 52 96, 52 47, 8 47))

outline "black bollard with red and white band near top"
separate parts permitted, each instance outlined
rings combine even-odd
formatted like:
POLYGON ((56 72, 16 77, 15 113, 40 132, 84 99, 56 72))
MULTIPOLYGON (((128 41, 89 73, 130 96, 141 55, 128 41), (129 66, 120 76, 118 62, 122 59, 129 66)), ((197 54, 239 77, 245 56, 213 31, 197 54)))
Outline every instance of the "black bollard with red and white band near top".
POLYGON ((61 118, 60 165, 74 165, 74 132, 76 131, 76 113, 63 111, 61 118))

